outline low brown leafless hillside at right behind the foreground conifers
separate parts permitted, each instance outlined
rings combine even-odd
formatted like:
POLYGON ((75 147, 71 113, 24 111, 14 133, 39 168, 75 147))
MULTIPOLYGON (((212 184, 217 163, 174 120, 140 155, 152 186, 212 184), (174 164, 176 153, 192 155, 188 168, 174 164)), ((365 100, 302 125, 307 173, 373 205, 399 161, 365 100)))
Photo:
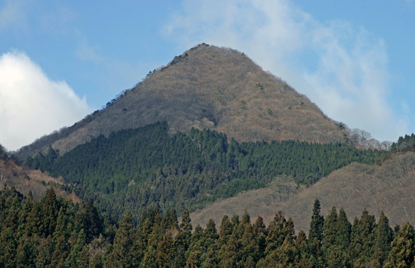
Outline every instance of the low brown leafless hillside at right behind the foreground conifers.
POLYGON ((363 209, 379 216, 381 211, 391 225, 415 223, 415 153, 401 152, 388 157, 381 166, 353 163, 332 172, 309 188, 298 188, 289 178, 275 181, 269 188, 243 192, 237 197, 216 202, 191 214, 194 224, 205 225, 210 218, 215 222, 223 214, 261 215, 270 222, 281 210, 291 216, 296 230, 310 228, 315 199, 321 202, 326 216, 332 206, 344 208, 350 221, 360 216, 363 209))

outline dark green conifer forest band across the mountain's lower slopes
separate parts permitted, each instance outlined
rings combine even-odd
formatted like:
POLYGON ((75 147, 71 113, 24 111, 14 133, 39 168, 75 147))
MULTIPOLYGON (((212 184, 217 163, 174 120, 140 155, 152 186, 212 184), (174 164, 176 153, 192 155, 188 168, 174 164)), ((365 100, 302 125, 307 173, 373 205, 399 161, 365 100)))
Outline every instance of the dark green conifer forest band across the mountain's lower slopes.
POLYGON ((138 217, 158 204, 195 210, 244 190, 264 188, 285 175, 310 186, 353 161, 374 164, 384 150, 358 150, 347 144, 296 141, 227 143, 225 134, 205 129, 170 134, 168 124, 155 123, 99 135, 59 157, 29 157, 33 169, 63 177, 83 199, 94 197, 103 210, 138 217))

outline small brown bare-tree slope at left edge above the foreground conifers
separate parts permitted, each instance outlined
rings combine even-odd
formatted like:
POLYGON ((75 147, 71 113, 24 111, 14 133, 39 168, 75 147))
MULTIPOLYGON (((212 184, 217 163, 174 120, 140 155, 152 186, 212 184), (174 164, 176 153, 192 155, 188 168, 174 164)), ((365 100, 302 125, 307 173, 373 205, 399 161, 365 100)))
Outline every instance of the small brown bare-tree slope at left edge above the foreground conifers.
POLYGON ((61 179, 50 177, 40 170, 29 170, 18 166, 14 161, 0 159, 0 183, 8 187, 14 186, 22 194, 32 191, 36 198, 41 198, 48 188, 55 186, 54 191, 57 195, 75 203, 80 202, 79 197, 73 192, 68 194, 56 187, 63 183, 61 179))

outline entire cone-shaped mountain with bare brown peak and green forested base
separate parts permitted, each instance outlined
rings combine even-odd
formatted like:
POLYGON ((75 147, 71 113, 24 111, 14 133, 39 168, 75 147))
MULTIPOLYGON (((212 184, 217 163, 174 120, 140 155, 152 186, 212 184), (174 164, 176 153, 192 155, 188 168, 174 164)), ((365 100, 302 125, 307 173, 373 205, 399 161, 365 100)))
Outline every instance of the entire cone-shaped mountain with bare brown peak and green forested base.
POLYGON ((353 161, 385 156, 347 145, 345 134, 245 54, 201 44, 17 155, 119 219, 155 203, 204 208, 281 176, 290 178, 287 189, 310 186, 353 161))

